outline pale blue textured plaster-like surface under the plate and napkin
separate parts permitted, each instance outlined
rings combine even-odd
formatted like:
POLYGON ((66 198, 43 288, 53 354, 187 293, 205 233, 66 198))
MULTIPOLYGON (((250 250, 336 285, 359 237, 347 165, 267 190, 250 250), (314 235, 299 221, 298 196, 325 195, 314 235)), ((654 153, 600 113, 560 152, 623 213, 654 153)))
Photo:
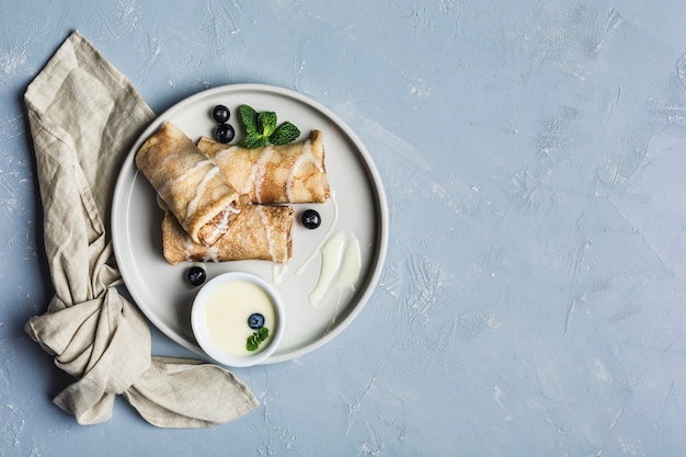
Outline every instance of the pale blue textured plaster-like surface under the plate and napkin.
MULTIPOLYGON (((0 456, 671 456, 686 448, 681 1, 0 5, 0 456), (261 407, 80 426, 23 332, 52 296, 22 95, 79 30, 158 113, 263 82, 339 114, 391 210, 369 305, 261 407), (90 449, 98 449, 94 453, 90 449)), ((188 355, 159 332, 153 351, 188 355)))

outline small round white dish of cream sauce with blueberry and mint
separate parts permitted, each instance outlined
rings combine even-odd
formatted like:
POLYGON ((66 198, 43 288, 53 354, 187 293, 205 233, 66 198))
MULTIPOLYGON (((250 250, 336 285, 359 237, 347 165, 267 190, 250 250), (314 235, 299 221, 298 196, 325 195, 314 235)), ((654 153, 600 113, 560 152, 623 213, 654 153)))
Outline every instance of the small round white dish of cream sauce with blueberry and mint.
POLYGON ((191 324, 198 345, 220 364, 258 365, 284 334, 284 305, 262 278, 241 272, 207 282, 193 301, 191 324))

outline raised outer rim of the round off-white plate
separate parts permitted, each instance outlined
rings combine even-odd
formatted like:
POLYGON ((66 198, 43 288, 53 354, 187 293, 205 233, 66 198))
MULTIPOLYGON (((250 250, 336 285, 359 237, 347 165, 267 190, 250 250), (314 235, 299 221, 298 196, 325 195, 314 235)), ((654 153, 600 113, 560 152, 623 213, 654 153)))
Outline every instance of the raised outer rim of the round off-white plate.
MULTIPOLYGON (((374 294, 378 285, 378 282, 380 279, 380 276, 384 270, 384 265, 386 263, 386 256, 388 253, 388 244, 389 244, 389 237, 390 237, 390 227, 389 227, 390 220, 389 220, 388 199, 387 199, 386 191, 384 187, 384 182, 379 173, 379 170, 374 159, 371 158, 369 150, 366 148, 366 146, 357 136, 357 134, 355 134, 355 132, 347 125, 347 123, 345 123, 338 114, 335 114, 329 107, 311 99, 308 95, 305 95, 295 90, 282 88, 278 85, 266 84, 266 83, 232 83, 232 84, 229 83, 229 84, 222 84, 222 85, 217 85, 214 88, 201 90, 190 96, 186 96, 178 101, 176 103, 174 103, 172 106, 163 111, 161 114, 156 115, 156 117, 152 121, 150 121, 150 123, 146 126, 145 129, 142 129, 142 132, 136 137, 136 140, 130 146, 128 152, 126 153, 126 158, 124 159, 122 163, 122 168, 116 179, 116 183, 115 183, 115 187, 113 192, 113 199, 112 199, 111 222, 110 222, 111 227, 110 228, 111 228, 113 252, 114 252, 114 258, 115 258, 115 262, 117 265, 117 270, 119 272, 119 275, 122 276, 124 286, 126 287, 128 294, 133 298, 134 304, 136 305, 138 310, 140 310, 140 312, 142 312, 142 315, 158 330, 160 330, 167 338, 171 339, 172 341, 174 341, 175 343, 180 344, 181 346, 187 350, 191 350, 199 355, 207 356, 207 354, 205 354, 205 352, 198 345, 193 344, 192 342, 184 339, 182 335, 178 334, 178 332, 172 330, 167 323, 164 323, 160 318, 158 318, 155 312, 151 312, 150 309, 145 306, 145 304, 144 305, 140 304, 140 299, 137 298, 136 292, 128 287, 128 284, 132 284, 130 278, 129 281, 127 281, 128 272, 126 271, 126 269, 122 269, 118 262, 118 259, 123 259, 124 256, 125 248, 117 240, 118 235, 115 235, 115 233, 117 233, 116 227, 118 226, 122 226, 123 228, 127 228, 127 224, 125 224, 125 221, 128 219, 128 215, 124 216, 122 214, 121 205, 123 205, 124 202, 126 202, 126 205, 124 206, 128 206, 129 201, 132 198, 133 188, 130 186, 127 186, 126 184, 128 184, 130 180, 135 179, 136 175, 139 173, 139 171, 135 167, 134 157, 136 155, 136 150, 139 148, 139 145, 144 142, 144 139, 149 137, 156 129, 158 129, 165 118, 172 117, 175 112, 182 110, 185 105, 193 104, 193 102, 198 99, 210 98, 219 93, 241 92, 241 91, 245 91, 245 92, 253 91, 253 92, 261 92, 265 94, 276 94, 276 95, 282 95, 282 96, 286 96, 289 99, 295 99, 296 101, 304 103, 308 105, 309 107, 320 112, 322 115, 328 117, 331 122, 333 122, 336 125, 336 127, 340 128, 343 132, 343 134, 347 137, 347 139, 354 145, 355 153, 362 158, 362 161, 364 162, 364 169, 367 173, 367 180, 370 182, 374 194, 375 194, 373 195, 373 197, 374 196, 376 197, 374 202, 374 206, 376 210, 378 212, 377 220, 375 222, 377 227, 376 231, 377 231, 378 247, 376 249, 375 256, 373 258, 374 262, 371 265, 373 266, 371 271, 366 276, 365 282, 364 282, 365 289, 364 292, 359 294, 358 298, 356 299, 356 304, 354 304, 350 312, 346 313, 345 318, 334 329, 327 332, 321 338, 316 339, 312 342, 308 342, 305 345, 296 350, 284 352, 284 353, 277 352, 275 354, 272 354, 270 358, 267 358, 266 361, 262 363, 262 365, 265 365, 265 364, 274 364, 274 363, 299 358, 328 344, 331 340, 333 340, 339 334, 341 334, 357 318, 357 316, 362 312, 362 310, 367 306, 371 295, 374 294), (129 176, 130 179, 127 179, 129 176)), ((125 212, 125 213, 128 213, 128 212, 125 212)))

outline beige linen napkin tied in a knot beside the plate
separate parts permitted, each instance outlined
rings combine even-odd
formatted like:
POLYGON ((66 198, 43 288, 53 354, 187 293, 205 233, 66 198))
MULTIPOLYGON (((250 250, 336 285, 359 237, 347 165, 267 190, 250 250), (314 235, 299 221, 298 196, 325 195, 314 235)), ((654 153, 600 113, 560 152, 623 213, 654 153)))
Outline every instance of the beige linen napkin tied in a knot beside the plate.
POLYGON ((256 407, 222 367, 152 357, 150 331, 116 289, 107 233, 114 184, 128 149, 155 117, 126 78, 78 32, 25 94, 55 296, 26 332, 78 380, 55 398, 79 423, 112 415, 124 396, 150 423, 203 427, 256 407))

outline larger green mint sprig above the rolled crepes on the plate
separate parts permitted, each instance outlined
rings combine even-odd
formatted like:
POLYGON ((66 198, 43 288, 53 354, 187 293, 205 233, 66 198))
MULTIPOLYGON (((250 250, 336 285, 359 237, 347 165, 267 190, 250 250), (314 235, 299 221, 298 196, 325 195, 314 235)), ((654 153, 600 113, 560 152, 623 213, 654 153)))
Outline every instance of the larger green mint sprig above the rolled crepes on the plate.
POLYGON ((250 105, 240 105, 238 113, 245 127, 245 147, 249 149, 268 144, 286 145, 300 136, 298 127, 290 122, 286 121, 279 125, 273 111, 258 113, 250 105))

